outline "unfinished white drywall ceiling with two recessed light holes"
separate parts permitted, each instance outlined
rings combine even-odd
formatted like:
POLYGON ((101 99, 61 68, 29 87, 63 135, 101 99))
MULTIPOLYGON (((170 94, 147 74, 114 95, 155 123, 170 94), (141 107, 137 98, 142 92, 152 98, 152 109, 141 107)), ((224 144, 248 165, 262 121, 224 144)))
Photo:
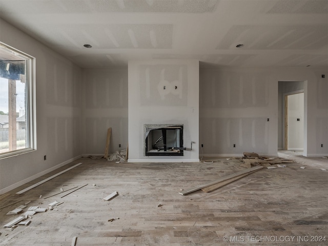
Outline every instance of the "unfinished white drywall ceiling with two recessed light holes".
POLYGON ((0 17, 83 68, 328 66, 327 0, 0 0, 0 17))

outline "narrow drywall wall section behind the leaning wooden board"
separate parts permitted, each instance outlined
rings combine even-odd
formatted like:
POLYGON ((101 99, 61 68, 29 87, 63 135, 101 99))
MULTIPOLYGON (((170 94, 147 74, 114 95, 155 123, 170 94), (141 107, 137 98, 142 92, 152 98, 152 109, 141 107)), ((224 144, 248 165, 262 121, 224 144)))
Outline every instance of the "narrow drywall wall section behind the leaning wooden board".
POLYGON ((128 69, 85 69, 83 95, 83 153, 104 155, 110 127, 109 153, 126 149, 128 69))

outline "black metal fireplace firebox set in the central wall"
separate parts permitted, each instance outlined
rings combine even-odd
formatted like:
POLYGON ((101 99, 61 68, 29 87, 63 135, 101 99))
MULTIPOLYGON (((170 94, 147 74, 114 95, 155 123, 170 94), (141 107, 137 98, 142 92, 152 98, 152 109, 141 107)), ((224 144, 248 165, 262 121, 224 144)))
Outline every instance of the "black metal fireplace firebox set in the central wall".
POLYGON ((183 125, 145 125, 146 156, 183 156, 183 125))

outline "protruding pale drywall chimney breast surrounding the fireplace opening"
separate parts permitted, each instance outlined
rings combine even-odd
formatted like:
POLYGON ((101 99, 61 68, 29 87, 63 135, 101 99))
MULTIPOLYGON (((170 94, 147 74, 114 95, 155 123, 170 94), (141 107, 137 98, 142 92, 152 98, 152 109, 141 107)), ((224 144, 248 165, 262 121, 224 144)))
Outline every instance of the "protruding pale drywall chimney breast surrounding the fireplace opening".
POLYGON ((129 161, 198 161, 198 60, 129 61, 128 69, 129 161), (183 125, 184 155, 145 156, 145 124, 183 125))

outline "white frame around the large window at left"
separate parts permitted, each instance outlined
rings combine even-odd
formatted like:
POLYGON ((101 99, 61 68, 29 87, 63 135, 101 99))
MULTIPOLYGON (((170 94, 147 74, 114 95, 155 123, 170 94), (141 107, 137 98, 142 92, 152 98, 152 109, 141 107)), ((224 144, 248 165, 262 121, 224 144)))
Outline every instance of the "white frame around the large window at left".
POLYGON ((19 51, 3 42, 0 49, 4 52, 13 53, 17 58, 26 60, 26 121, 28 147, 19 150, 0 153, 0 159, 28 153, 36 150, 36 83, 35 83, 35 57, 19 51))

